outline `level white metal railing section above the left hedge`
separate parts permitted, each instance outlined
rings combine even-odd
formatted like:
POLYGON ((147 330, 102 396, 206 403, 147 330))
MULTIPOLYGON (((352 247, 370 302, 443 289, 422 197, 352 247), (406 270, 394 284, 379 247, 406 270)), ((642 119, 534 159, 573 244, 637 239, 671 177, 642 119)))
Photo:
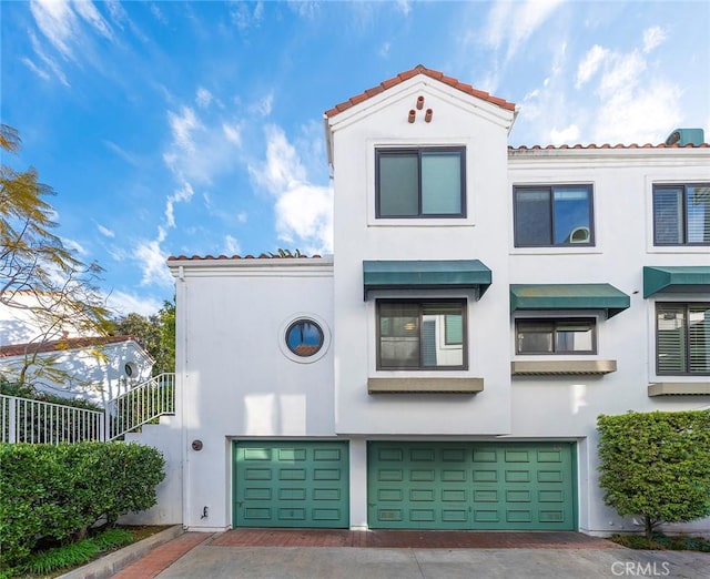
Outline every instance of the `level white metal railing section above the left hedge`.
POLYGON ((104 413, 0 394, 2 443, 59 444, 104 439, 104 413))

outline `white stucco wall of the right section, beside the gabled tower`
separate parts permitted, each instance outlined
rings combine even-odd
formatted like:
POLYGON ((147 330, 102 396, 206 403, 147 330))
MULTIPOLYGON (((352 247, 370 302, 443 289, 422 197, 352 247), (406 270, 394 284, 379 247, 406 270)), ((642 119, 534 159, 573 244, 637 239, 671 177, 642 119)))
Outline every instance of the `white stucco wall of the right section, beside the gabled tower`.
MULTIPOLYGON (((652 245, 652 184, 710 181, 710 153, 696 150, 557 150, 515 152, 509 163, 508 214, 513 186, 535 183, 594 185, 595 247, 515 248, 508 220, 510 283, 610 283, 631 296, 631 307, 598 325, 598 354, 566 359, 615 359, 618 369, 605 376, 513 377, 513 437, 577 439, 580 529, 638 530, 604 506, 598 487, 596 421, 600 414, 628 410, 683 410, 710 406, 709 396, 648 396, 648 385, 663 382, 655 370, 656 301, 707 301, 708 295, 658 294, 643 298, 645 265, 710 265, 707 247, 652 245)), ((508 352, 516 356, 514 324, 508 352)), ((666 380, 669 378, 666 377, 666 380)), ((704 382, 707 377, 673 377, 704 382)), ((710 521, 696 528, 710 531, 710 521)))

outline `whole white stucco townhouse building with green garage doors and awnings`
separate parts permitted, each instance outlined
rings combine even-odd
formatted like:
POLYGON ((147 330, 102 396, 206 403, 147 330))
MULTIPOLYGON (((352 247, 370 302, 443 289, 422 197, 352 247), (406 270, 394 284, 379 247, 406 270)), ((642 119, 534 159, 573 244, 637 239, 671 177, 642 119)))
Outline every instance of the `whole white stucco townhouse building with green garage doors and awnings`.
POLYGON ((154 521, 638 528, 596 420, 710 406, 710 146, 510 149, 515 116, 417 67, 325 113, 335 257, 169 260, 154 521))

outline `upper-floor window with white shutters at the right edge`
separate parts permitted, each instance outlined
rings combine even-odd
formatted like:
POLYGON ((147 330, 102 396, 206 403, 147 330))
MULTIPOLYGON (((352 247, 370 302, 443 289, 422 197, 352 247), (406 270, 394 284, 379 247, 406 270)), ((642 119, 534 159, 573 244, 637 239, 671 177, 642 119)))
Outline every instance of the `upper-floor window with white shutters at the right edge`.
POLYGON ((710 245, 710 183, 653 185, 653 245, 710 245))

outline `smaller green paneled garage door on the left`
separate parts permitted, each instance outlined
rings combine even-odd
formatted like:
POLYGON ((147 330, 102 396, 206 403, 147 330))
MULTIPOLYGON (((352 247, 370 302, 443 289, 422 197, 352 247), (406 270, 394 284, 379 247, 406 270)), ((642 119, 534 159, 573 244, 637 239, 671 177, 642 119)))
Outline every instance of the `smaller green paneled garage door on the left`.
POLYGON ((347 443, 234 443, 234 526, 347 528, 347 443))

